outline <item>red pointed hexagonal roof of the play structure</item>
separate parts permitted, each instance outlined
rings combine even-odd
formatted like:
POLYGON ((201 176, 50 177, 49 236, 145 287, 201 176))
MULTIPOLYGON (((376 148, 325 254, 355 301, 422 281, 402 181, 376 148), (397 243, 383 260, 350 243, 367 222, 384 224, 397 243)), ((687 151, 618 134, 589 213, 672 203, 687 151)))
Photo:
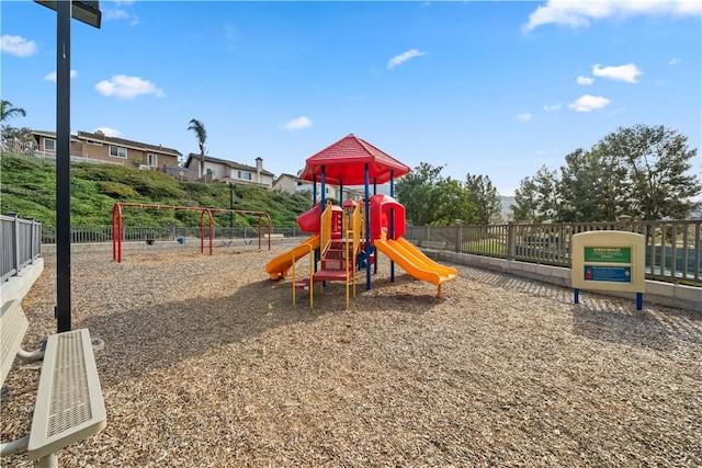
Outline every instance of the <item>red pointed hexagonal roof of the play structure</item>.
POLYGON ((325 183, 333 185, 365 185, 365 164, 369 164, 369 182, 384 184, 410 171, 392 156, 383 152, 353 134, 310 156, 299 179, 321 182, 325 168, 325 183))

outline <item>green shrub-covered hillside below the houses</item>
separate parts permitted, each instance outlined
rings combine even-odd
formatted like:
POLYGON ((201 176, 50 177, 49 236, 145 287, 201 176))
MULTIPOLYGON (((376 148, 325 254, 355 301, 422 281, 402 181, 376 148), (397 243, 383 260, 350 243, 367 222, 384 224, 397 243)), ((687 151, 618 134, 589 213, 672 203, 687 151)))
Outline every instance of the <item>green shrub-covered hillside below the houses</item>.
MULTIPOLYGON (((16 212, 56 225, 56 165, 53 161, 3 153, 0 164, 0 213, 16 212)), ((157 171, 112 164, 71 164, 71 224, 109 226, 116 202, 229 208, 229 186, 223 183, 179 182, 157 171)), ((310 202, 237 185, 234 209, 268 212, 274 227, 296 226, 310 202)), ((125 209, 128 226, 199 226, 199 212, 125 209)), ((215 215, 217 226, 229 225, 229 214, 215 215)), ((235 215, 235 226, 257 226, 258 216, 235 215)))

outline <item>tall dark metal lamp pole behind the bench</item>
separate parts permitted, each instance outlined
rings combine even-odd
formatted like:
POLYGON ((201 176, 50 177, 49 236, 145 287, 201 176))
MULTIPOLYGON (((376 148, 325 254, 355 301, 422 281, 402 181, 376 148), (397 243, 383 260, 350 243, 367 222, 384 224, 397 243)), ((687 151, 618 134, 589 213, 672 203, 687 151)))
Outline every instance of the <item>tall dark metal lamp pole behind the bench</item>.
POLYGON ((56 2, 56 326, 70 330, 70 19, 56 2))

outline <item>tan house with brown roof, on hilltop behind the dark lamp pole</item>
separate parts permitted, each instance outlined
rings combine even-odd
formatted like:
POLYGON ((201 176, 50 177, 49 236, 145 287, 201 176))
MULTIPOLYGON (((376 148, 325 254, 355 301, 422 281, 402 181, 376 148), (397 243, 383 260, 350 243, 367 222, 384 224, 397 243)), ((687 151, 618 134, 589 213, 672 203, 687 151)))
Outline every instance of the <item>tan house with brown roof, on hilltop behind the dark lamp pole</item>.
MULTIPOLYGON (((56 133, 32 130, 35 156, 56 158, 56 133)), ((102 132, 78 132, 70 137, 71 160, 129 164, 140 169, 177 167, 182 153, 161 145, 109 137, 102 132)))

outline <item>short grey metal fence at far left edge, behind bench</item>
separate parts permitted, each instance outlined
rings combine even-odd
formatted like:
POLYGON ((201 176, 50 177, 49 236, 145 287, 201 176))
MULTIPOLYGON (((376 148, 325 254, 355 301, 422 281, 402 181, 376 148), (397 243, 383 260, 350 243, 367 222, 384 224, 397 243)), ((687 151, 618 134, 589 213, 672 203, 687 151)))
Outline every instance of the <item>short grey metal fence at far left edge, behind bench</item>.
POLYGON ((42 254, 42 224, 14 213, 0 215, 0 273, 4 283, 42 254))

